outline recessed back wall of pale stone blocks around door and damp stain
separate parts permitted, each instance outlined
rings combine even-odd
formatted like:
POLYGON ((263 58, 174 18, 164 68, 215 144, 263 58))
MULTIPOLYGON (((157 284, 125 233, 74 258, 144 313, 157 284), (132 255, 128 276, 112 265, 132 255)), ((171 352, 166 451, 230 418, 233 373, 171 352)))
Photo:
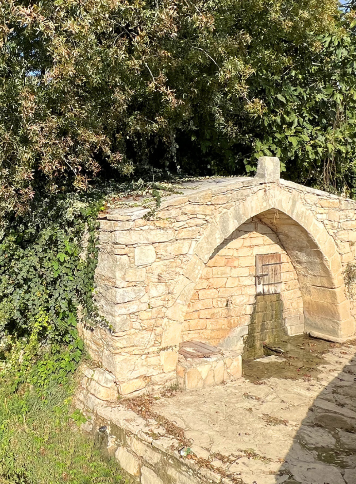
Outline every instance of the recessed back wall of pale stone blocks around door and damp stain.
POLYGON ((226 349, 241 349, 254 310, 255 257, 281 254, 283 324, 289 334, 304 332, 303 301, 297 273, 278 236, 257 217, 220 244, 195 286, 182 326, 182 341, 197 339, 226 349))

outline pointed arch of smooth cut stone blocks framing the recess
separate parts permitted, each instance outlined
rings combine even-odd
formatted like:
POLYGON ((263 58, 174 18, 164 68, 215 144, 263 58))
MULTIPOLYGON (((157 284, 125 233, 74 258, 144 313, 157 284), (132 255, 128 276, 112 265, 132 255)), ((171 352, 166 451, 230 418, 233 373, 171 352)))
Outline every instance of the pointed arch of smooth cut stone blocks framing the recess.
POLYGON ((298 273, 306 331, 332 341, 344 341, 354 333, 350 303, 345 298, 341 258, 333 238, 300 202, 298 194, 290 194, 277 185, 268 191, 262 188, 243 202, 236 202, 206 228, 177 284, 177 297, 166 313, 163 345, 164 342, 179 344, 187 304, 217 246, 256 216, 279 235, 298 273))

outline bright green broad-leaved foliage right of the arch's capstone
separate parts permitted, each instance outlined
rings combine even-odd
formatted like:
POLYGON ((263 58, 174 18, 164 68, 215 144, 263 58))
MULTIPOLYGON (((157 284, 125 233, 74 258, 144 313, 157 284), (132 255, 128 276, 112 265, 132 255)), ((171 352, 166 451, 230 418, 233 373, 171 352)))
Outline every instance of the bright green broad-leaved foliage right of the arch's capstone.
POLYGON ((344 15, 338 29, 303 49, 299 65, 271 73, 260 120, 263 136, 254 153, 279 156, 295 181, 351 197, 356 196, 355 27, 355 12, 344 15))

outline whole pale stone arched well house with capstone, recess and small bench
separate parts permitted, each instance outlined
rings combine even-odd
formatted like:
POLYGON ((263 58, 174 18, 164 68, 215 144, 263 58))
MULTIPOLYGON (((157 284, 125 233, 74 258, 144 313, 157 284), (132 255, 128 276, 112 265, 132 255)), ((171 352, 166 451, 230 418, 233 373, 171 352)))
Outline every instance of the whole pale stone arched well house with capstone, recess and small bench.
POLYGON ((110 329, 81 327, 99 367, 86 377, 91 393, 212 385, 238 378, 241 355, 260 355, 276 335, 355 335, 345 279, 355 201, 281 180, 268 157, 254 178, 190 182, 182 192, 155 217, 132 207, 100 218, 96 300, 110 329), (190 341, 205 358, 184 356, 190 341))

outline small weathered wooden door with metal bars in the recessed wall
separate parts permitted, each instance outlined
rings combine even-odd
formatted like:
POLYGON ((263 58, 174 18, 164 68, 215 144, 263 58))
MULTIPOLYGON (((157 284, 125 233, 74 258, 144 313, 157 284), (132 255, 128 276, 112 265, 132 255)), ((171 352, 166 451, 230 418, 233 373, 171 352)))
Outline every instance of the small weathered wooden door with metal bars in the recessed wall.
POLYGON ((281 285, 280 254, 256 256, 256 294, 277 294, 281 285))

